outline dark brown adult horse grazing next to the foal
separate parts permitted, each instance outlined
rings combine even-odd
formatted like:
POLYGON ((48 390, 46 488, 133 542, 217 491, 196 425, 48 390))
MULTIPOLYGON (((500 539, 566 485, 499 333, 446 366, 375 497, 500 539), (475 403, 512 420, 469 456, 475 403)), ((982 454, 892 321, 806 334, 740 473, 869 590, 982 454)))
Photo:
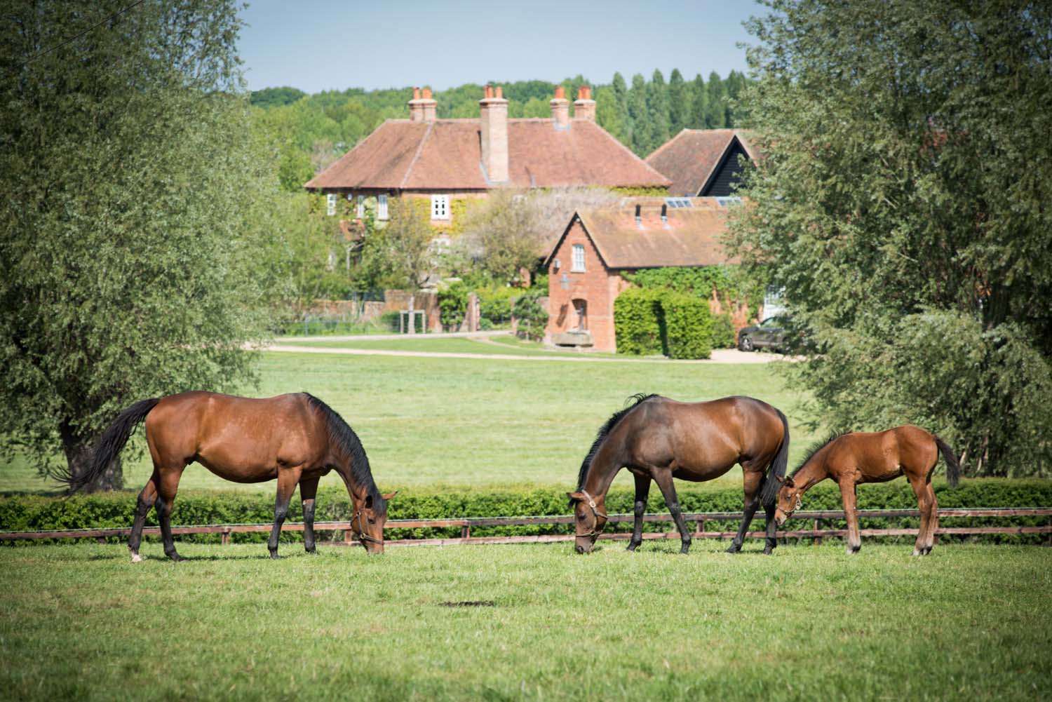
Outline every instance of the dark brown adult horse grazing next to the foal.
POLYGON ((741 464, 745 484, 742 526, 727 553, 742 549, 745 530, 756 508, 767 514, 767 545, 774 538, 774 498, 786 473, 789 456, 789 422, 766 402, 730 397, 711 402, 676 402, 658 395, 636 395, 635 401, 613 415, 599 430, 588 450, 578 489, 567 493, 575 503, 575 546, 579 554, 592 549, 606 526, 606 493, 622 467, 635 478, 635 524, 628 550, 643 541, 643 514, 647 508, 650 481, 665 497, 665 504, 680 529, 680 553, 690 549, 690 531, 680 510, 673 478, 702 482, 719 478, 741 464))

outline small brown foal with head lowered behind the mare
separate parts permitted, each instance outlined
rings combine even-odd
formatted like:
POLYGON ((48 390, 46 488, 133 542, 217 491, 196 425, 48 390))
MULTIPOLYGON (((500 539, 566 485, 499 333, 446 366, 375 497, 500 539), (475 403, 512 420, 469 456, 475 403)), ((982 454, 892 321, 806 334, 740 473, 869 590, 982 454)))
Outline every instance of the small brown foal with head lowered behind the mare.
POLYGON ((946 460, 946 476, 951 485, 960 478, 960 465, 953 449, 938 437, 919 426, 896 426, 887 432, 856 432, 833 437, 811 452, 791 476, 782 480, 775 520, 782 526, 800 509, 801 496, 812 485, 829 478, 841 486, 844 516, 848 521, 849 554, 862 548, 858 513, 855 510, 855 486, 883 483, 905 475, 917 497, 920 531, 913 546, 914 556, 927 556, 935 543, 938 526, 938 501, 931 487, 931 474, 938 455, 946 460))

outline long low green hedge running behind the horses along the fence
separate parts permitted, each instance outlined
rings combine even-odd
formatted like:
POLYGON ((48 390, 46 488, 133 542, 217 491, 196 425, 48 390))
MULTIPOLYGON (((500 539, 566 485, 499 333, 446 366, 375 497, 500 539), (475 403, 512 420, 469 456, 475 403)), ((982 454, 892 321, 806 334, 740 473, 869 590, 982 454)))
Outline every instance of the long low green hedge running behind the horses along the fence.
MULTIPOLYGON (((519 517, 543 515, 568 515, 570 508, 566 500, 566 486, 510 486, 502 488, 470 487, 412 487, 400 490, 389 505, 391 519, 443 519, 457 517, 519 517)), ((742 508, 742 490, 731 487, 716 487, 705 484, 677 483, 680 502, 685 512, 736 512, 742 508)), ((945 483, 936 483, 935 493, 940 507, 1052 507, 1052 481, 1048 480, 964 480, 956 488, 945 483)), ((607 496, 610 514, 631 513, 634 496, 631 489, 613 489, 607 496)), ((135 512, 135 493, 108 493, 102 495, 76 496, 70 499, 32 495, 8 495, 0 497, 0 529, 72 529, 130 526, 135 512)), ((804 509, 838 509, 841 496, 837 486, 829 481, 820 483, 804 496, 804 509)), ((916 507, 916 498, 906 481, 863 485, 858 488, 859 509, 909 509, 916 507)), ((649 512, 665 509, 664 501, 655 490, 651 492, 649 512)), ((339 485, 328 485, 319 490, 316 519, 318 521, 348 520, 351 515, 346 492, 339 485)), ((274 496, 265 493, 204 492, 185 490, 180 493, 173 509, 173 524, 238 524, 266 523, 274 518, 274 496)), ((302 520, 298 500, 294 500, 288 519, 302 520)), ((863 528, 912 527, 915 518, 864 519, 863 528)), ((149 525, 156 525, 156 514, 150 510, 149 525)), ((1041 525, 1048 518, 944 518, 943 526, 966 525, 1041 525)), ((736 526, 725 522, 726 530, 736 526)), ((761 513, 757 524, 762 526, 761 513)), ((801 524, 797 522, 797 524, 801 524)), ((668 523, 646 524, 647 530, 658 531, 669 528, 668 523)), ((836 526, 835 523, 826 526, 836 526)), ((843 522, 841 523, 843 526, 843 522)), ((610 530, 630 530, 631 523, 611 524, 610 530)), ((566 534, 569 525, 548 524, 535 526, 476 527, 472 536, 506 536, 529 534, 566 534)), ((452 538, 459 528, 390 529, 387 537, 404 538, 452 538)), ((328 535, 322 534, 324 539, 328 535)), ((340 538, 333 534, 335 538, 340 538)), ((236 542, 265 541, 266 534, 234 534, 236 542)), ((187 541, 217 542, 218 535, 194 535, 181 537, 187 541)), ((283 541, 299 541, 300 533, 285 533, 283 541)), ((912 537, 904 537, 908 540, 912 537)), ((1009 536, 994 535, 987 541, 1037 543, 1041 535, 1009 536)), ((120 541, 115 539, 115 541, 120 541)), ((13 543, 13 542, 5 542, 13 543)), ((19 542, 25 543, 25 542, 19 542)))

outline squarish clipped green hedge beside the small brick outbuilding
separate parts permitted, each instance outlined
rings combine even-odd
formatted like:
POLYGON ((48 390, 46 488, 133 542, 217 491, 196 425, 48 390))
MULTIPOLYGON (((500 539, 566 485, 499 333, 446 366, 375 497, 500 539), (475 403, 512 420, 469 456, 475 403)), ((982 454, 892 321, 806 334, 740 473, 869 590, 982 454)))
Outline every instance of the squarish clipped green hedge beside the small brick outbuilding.
MULTIPOLYGON (((631 287, 613 302, 619 354, 708 358, 713 320, 708 300, 665 288, 631 287)), ((725 329, 717 330, 724 341, 725 329)))

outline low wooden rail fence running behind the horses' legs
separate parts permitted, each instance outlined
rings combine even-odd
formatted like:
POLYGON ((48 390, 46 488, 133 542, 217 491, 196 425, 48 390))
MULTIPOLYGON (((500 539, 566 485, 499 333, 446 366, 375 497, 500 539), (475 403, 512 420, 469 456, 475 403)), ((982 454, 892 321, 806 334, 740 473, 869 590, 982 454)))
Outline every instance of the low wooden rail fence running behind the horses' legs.
MULTIPOLYGON (((859 509, 858 517, 918 517, 920 513, 916 509, 859 509)), ((1026 507, 1026 508, 975 508, 975 509, 939 509, 939 518, 951 517, 1048 517, 1049 523, 1041 526, 948 526, 939 527, 935 534, 939 535, 984 535, 984 534, 1048 534, 1049 544, 1052 545, 1052 508, 1026 507)), ((684 513, 687 522, 694 523, 692 537, 702 539, 729 539, 735 531, 724 531, 722 529, 710 529, 709 522, 739 521, 742 513, 736 512, 692 512, 684 513)), ((632 515, 610 515, 611 522, 630 522, 634 519, 632 515)), ((813 510, 798 512, 790 517, 791 520, 810 520, 813 528, 809 529, 788 529, 780 530, 778 538, 811 538, 817 542, 825 537, 843 537, 847 535, 847 529, 822 528, 823 521, 842 520, 844 513, 841 510, 813 510)), ((670 522, 671 515, 653 514, 644 515, 645 522, 670 522)), ((425 545, 454 545, 454 544, 483 544, 483 543, 544 543, 553 541, 570 541, 572 534, 539 534, 532 536, 497 536, 497 537, 472 537, 471 527, 477 526, 541 526, 551 524, 570 524, 573 517, 546 516, 546 517, 463 517, 459 519, 389 519, 385 525, 387 529, 419 529, 436 527, 460 527, 459 538, 440 539, 398 539, 387 541, 389 546, 425 546, 425 545)), ((231 534, 245 534, 257 531, 269 531, 271 524, 203 524, 188 526, 173 526, 174 535, 187 534, 219 534, 222 543, 229 543, 231 534)), ((283 531, 302 531, 302 522, 286 522, 282 525, 283 531)), ((342 543, 357 543, 350 531, 350 522, 315 522, 316 531, 342 531, 342 543)), ((106 539, 108 537, 126 537, 130 534, 130 527, 98 528, 98 529, 49 529, 39 531, 0 531, 0 541, 21 541, 34 539, 106 539)), ((160 536, 160 528, 148 526, 143 529, 144 535, 160 536)), ((915 528, 868 528, 859 529, 862 536, 914 536, 915 528)), ((604 534, 602 539, 628 539, 629 534, 604 534)), ((765 537, 763 531, 750 531, 746 535, 752 539, 765 537)), ((679 533, 672 531, 648 531, 644 533, 644 539, 677 539, 679 533)), ((340 543, 336 541, 335 543, 340 543)))

